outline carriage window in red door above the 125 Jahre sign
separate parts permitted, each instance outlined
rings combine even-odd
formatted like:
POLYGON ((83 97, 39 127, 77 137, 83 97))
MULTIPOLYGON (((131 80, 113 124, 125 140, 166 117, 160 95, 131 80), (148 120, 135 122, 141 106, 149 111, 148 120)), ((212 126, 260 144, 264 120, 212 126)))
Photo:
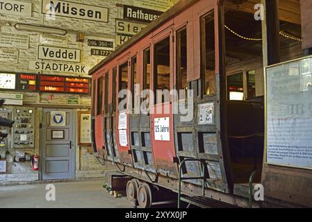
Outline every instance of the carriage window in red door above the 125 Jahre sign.
MULTIPOLYGON (((170 37, 155 45, 154 61, 154 93, 157 95, 157 89, 170 90, 170 37)), ((156 99, 155 101, 156 103, 158 101, 162 101, 162 103, 168 102, 169 96, 163 96, 161 100, 156 99)))

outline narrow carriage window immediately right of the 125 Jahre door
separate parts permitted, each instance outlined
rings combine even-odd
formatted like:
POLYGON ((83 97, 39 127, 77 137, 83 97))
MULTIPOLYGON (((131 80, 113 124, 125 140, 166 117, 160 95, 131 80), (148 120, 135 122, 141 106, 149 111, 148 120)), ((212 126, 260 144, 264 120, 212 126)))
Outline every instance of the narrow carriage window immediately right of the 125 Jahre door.
POLYGON ((180 95, 179 99, 184 99, 187 96, 187 42, 186 28, 176 33, 176 71, 177 71, 177 89, 184 89, 185 94, 180 95))

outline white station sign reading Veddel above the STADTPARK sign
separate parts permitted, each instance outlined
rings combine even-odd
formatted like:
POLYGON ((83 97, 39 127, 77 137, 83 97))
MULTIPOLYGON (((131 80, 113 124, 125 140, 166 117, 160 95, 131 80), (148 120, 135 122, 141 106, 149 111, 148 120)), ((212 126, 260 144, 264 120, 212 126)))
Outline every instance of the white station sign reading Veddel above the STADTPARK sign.
POLYGON ((38 46, 38 58, 42 60, 80 62, 80 50, 52 46, 38 46))

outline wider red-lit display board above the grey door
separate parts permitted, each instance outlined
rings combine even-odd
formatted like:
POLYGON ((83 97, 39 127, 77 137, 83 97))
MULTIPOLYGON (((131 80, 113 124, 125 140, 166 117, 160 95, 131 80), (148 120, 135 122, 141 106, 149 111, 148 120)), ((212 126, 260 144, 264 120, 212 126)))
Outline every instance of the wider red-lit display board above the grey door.
POLYGON ((39 90, 41 92, 90 94, 90 78, 40 75, 39 90))

